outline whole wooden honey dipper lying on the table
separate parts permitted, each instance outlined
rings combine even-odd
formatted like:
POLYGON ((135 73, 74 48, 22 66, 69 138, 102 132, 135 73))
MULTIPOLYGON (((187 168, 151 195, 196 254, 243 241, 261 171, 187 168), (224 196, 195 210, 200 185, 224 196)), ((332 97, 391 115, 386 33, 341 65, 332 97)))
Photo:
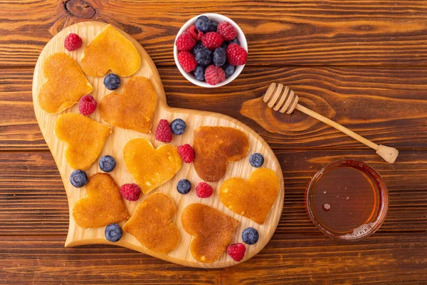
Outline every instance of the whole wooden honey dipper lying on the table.
POLYGON ((322 121, 323 123, 330 125, 332 128, 336 128, 337 130, 349 135, 354 138, 354 140, 358 140, 362 142, 364 145, 367 145, 374 150, 376 150, 376 154, 384 158, 386 162, 393 163, 397 156, 399 155, 399 150, 396 150, 394 147, 387 147, 385 145, 377 145, 366 138, 363 138, 361 135, 357 135, 352 130, 349 130, 338 123, 335 123, 333 120, 330 120, 310 109, 305 108, 304 106, 298 104, 298 96, 295 95, 294 91, 290 90, 288 86, 283 86, 283 84, 271 83, 268 90, 265 92, 264 102, 267 103, 269 108, 273 108, 275 111, 279 111, 280 113, 292 113, 293 110, 300 110, 302 113, 312 116, 317 120, 322 121))

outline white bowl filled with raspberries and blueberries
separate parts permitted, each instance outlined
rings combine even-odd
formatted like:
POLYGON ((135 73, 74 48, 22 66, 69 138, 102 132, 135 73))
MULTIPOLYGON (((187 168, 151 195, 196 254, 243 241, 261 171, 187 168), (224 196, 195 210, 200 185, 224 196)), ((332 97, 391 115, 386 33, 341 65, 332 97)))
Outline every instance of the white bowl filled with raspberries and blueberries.
POLYGON ((202 14, 179 30, 174 58, 182 75, 196 86, 224 86, 243 70, 248 43, 241 28, 228 17, 202 14))

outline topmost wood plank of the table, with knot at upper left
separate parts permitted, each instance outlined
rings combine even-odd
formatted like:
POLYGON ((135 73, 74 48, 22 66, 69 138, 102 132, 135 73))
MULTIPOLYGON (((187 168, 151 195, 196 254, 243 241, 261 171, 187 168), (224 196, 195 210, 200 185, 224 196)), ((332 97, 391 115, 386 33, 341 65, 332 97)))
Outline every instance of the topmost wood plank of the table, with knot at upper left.
POLYGON ((87 20, 115 24, 137 38, 158 66, 173 66, 176 32, 206 12, 230 16, 241 26, 249 65, 427 63, 423 1, 87 1, 95 14, 92 8, 74 10, 80 19, 65 11, 66 1, 1 1, 0 66, 34 66, 53 34, 87 20))

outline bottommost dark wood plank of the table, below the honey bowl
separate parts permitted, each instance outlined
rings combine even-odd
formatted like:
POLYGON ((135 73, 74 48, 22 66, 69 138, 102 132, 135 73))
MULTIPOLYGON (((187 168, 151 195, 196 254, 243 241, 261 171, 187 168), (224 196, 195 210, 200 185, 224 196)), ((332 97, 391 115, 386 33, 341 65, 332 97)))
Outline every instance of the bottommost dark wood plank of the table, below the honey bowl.
MULTIPOLYGON (((425 284, 425 233, 377 233, 338 243, 320 234, 284 232, 249 261, 193 269, 130 249, 64 248, 64 236, 0 236, 7 284, 425 284)), ((1 281, 0 281, 1 282, 1 281)))

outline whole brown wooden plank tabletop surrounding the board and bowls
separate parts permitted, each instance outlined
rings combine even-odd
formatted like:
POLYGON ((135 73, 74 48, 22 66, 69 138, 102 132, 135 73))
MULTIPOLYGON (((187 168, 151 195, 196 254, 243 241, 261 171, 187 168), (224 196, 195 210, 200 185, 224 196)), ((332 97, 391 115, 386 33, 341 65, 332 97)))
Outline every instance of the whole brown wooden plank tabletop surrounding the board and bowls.
POLYGON ((427 284, 427 1, 1 0, 0 17, 1 284, 427 284), (248 39, 246 68, 222 88, 193 86, 174 66, 176 32, 204 12, 231 17, 248 39), (63 247, 67 198, 36 123, 31 81, 49 39, 88 19, 146 48, 169 105, 230 115, 273 148, 285 204, 273 239, 253 259, 205 270, 120 247, 63 247), (272 82, 398 148, 396 163, 298 111, 265 113, 257 98, 272 82), (325 237, 305 210, 310 177, 342 158, 367 162, 389 187, 386 221, 361 242, 325 237))

